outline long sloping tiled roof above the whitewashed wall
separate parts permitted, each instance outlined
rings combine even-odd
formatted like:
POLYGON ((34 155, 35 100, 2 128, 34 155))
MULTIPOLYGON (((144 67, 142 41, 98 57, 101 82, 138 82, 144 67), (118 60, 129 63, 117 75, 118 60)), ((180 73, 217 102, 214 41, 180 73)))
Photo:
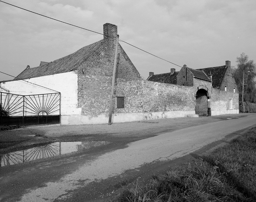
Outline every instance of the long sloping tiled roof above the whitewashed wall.
POLYGON ((83 62, 103 42, 104 39, 91 45, 85 46, 68 56, 54 60, 53 62, 49 62, 34 68, 26 68, 17 76, 17 79, 29 79, 33 77, 42 77, 46 75, 73 71, 76 65, 83 62))

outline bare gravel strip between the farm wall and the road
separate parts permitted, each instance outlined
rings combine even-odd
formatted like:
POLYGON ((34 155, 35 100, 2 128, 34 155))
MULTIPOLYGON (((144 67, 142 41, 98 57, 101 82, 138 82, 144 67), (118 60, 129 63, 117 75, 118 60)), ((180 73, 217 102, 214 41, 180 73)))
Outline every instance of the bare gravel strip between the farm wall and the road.
POLYGON ((170 118, 91 125, 53 125, 22 127, 0 131, 0 154, 27 149, 57 141, 112 141, 128 143, 171 132, 184 127, 238 118, 247 114, 232 114, 199 118, 170 118))

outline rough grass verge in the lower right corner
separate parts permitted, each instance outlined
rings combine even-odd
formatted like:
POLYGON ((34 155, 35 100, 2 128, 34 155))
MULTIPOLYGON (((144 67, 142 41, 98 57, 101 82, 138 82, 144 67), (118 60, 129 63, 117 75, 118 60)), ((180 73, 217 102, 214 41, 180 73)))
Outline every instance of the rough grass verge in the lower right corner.
POLYGON ((111 202, 256 201, 256 127, 143 187, 134 187, 111 202))

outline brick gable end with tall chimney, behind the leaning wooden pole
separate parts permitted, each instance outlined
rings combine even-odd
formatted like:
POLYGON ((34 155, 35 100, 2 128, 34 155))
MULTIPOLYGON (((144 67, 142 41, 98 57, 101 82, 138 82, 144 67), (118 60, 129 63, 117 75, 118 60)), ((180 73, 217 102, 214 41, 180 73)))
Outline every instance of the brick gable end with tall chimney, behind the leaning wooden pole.
MULTIPOLYGON (((104 24, 103 43, 78 66, 78 107, 82 108, 82 115, 97 115, 109 111, 116 35, 116 25, 104 24)), ((118 45, 116 78, 142 80, 120 44, 118 45)))

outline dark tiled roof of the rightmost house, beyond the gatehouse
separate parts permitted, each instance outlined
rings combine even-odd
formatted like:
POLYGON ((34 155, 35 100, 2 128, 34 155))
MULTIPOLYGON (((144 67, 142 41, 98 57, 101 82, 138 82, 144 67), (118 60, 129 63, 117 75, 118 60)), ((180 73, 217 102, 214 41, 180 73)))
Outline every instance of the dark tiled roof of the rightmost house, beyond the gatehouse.
POLYGON ((212 88, 220 89, 224 80, 228 67, 226 65, 219 67, 208 67, 204 69, 197 69, 204 71, 206 75, 212 74, 212 88))

